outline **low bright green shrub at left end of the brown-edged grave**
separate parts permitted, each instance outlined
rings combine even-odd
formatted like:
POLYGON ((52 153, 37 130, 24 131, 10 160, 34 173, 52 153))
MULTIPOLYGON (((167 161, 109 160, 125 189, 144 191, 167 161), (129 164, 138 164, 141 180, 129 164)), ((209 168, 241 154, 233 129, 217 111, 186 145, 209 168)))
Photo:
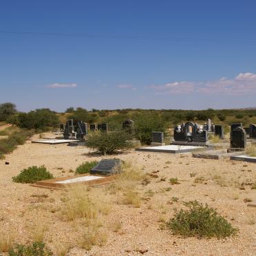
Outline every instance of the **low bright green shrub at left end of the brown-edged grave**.
POLYGON ((46 170, 44 165, 41 167, 28 167, 28 169, 23 169, 19 175, 12 177, 14 182, 18 183, 34 183, 39 180, 49 180, 54 178, 52 173, 46 170))

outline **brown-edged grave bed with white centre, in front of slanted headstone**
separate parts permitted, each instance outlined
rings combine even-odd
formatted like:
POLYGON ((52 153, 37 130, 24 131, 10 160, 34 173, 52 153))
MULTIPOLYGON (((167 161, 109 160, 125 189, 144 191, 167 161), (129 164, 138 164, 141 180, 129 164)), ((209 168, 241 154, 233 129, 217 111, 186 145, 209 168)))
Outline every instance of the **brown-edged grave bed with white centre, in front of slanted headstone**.
POLYGON ((85 186, 103 186, 114 182, 116 180, 116 175, 111 175, 108 177, 101 177, 97 175, 83 174, 78 176, 69 176, 65 178, 56 178, 52 180, 41 180, 31 186, 40 187, 43 189, 66 189, 67 186, 72 184, 84 184, 85 186))

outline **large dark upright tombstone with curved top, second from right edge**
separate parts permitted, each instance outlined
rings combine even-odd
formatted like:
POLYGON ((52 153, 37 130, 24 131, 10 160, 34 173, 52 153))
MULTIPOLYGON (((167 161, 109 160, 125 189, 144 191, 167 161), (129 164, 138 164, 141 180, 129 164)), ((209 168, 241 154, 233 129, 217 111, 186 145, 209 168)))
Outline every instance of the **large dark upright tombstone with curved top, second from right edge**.
POLYGON ((231 125, 231 149, 246 149, 246 131, 242 123, 231 125))

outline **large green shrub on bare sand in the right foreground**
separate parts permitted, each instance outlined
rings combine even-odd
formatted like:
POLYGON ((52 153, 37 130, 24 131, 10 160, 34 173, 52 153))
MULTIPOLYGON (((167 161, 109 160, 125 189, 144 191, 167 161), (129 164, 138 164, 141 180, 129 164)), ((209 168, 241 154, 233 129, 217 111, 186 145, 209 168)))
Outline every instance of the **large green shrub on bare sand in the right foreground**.
POLYGON ((203 206, 198 201, 184 203, 189 207, 187 210, 180 210, 167 222, 167 227, 174 235, 184 237, 217 237, 224 238, 237 233, 237 228, 218 215, 215 209, 203 206))

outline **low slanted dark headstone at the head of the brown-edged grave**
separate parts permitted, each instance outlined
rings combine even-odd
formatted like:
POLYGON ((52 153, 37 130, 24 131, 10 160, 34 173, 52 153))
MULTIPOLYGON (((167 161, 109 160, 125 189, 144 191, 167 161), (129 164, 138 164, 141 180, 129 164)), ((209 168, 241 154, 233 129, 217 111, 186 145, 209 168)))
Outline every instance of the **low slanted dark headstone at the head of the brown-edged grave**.
POLYGON ((114 175, 121 172, 121 164, 122 161, 120 159, 103 159, 100 160, 89 173, 92 175, 98 174, 104 176, 114 175))

